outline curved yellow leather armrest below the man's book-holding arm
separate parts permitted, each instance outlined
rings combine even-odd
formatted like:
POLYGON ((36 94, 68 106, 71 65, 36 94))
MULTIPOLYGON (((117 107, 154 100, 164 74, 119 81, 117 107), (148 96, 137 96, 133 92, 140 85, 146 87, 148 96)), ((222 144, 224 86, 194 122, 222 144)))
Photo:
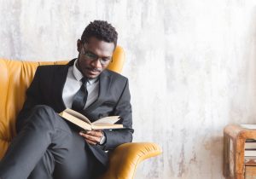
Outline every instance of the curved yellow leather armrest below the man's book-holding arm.
POLYGON ((100 179, 131 179, 138 164, 160 153, 161 148, 152 142, 122 144, 110 154, 108 170, 100 179))

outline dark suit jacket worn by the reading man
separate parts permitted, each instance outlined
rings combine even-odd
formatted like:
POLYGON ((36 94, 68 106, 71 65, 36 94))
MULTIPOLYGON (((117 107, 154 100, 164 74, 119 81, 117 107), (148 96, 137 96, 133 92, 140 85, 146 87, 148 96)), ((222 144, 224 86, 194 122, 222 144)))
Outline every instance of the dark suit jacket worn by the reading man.
MULTIPOLYGON (((68 67, 73 66, 73 62, 74 60, 67 65, 38 66, 32 84, 26 91, 24 106, 18 115, 17 132, 26 123, 32 108, 37 105, 52 107, 56 113, 61 113, 66 108, 62 99, 62 90, 67 79, 68 67)), ((84 115, 91 121, 109 115, 118 115, 121 118, 119 123, 125 126, 125 130, 104 130, 107 141, 103 147, 89 145, 96 158, 106 164, 108 159, 103 150, 111 150, 132 140, 131 95, 128 79, 116 72, 105 70, 99 80, 98 98, 84 110, 84 115)))

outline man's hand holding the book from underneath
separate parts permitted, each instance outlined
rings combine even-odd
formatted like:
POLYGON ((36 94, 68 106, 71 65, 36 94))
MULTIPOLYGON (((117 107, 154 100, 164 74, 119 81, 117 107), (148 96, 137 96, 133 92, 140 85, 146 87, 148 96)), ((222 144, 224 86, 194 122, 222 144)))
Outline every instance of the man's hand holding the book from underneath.
POLYGON ((102 136, 104 134, 102 130, 92 130, 92 131, 80 131, 79 135, 83 136, 84 140, 87 141, 88 143, 92 145, 96 145, 101 141, 102 136))

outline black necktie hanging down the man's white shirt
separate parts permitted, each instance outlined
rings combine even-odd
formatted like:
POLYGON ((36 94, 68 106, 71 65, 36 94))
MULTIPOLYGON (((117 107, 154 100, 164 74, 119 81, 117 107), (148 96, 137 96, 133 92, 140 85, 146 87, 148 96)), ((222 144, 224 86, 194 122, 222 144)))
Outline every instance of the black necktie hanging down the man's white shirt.
POLYGON ((86 89, 87 79, 82 78, 82 86, 79 91, 73 96, 72 109, 75 111, 81 111, 84 109, 87 101, 88 91, 86 89))

